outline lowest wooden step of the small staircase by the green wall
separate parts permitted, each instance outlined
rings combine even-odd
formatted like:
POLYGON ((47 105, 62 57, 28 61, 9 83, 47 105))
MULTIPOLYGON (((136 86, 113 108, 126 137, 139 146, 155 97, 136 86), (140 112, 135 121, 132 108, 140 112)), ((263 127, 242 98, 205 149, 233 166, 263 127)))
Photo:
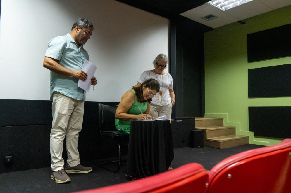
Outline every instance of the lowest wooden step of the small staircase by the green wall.
MULTIPOLYGON (((244 135, 229 135, 207 138, 206 146, 213 148, 230 148, 239 145, 249 144, 249 136, 244 135)), ((205 145, 205 144, 204 144, 205 145)))

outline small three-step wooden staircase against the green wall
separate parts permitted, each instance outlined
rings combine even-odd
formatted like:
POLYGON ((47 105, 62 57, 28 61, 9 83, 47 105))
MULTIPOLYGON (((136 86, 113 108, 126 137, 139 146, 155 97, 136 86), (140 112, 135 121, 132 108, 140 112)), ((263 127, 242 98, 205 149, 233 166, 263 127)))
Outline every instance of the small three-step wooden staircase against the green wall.
POLYGON ((223 149, 249 143, 249 136, 236 135, 235 126, 223 125, 223 118, 195 117, 195 129, 203 131, 205 146, 223 149))

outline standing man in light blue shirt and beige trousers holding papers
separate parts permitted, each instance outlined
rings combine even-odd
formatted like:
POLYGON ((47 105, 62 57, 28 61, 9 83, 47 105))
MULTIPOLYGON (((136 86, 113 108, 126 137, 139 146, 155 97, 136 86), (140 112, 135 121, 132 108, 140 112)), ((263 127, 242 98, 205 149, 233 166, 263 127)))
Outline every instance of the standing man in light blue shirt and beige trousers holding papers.
MULTIPOLYGON (((84 115, 85 90, 78 87, 78 80, 87 80, 82 71, 84 60, 89 55, 83 45, 93 31, 91 22, 78 19, 70 34, 51 39, 45 53, 43 66, 50 70, 50 99, 53 122, 50 135, 51 179, 56 183, 70 182, 66 173, 88 173, 91 167, 80 164, 78 152, 79 132, 84 115), (66 138, 68 159, 64 170, 63 141, 66 138)), ((96 85, 91 78, 91 85, 96 85)))

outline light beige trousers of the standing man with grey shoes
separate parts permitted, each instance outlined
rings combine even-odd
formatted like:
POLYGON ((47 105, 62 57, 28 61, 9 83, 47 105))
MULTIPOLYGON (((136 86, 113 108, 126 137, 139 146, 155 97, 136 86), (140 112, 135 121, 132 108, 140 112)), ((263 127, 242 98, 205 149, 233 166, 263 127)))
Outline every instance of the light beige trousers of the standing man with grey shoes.
POLYGON ((79 132, 82 129, 84 100, 76 100, 56 92, 51 107, 53 122, 50 135, 51 169, 64 169, 63 143, 66 138, 67 164, 75 167, 80 164, 78 152, 79 132))

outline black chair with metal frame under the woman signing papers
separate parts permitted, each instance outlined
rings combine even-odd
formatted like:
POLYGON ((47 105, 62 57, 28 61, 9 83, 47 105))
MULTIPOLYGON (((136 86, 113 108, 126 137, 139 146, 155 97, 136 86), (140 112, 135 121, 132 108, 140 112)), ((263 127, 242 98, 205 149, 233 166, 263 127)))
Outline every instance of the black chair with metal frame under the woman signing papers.
POLYGON ((100 133, 103 137, 110 137, 112 139, 115 139, 118 141, 118 154, 119 154, 119 159, 115 161, 110 161, 110 162, 104 162, 101 163, 99 166, 112 171, 114 173, 117 173, 120 169, 121 162, 126 161, 126 160, 121 160, 121 155, 120 155, 120 142, 125 140, 129 140, 129 134, 122 132, 122 131, 117 131, 115 128, 115 112, 116 112, 117 106, 111 106, 111 105, 104 105, 99 103, 99 128, 100 128, 100 133), (108 167, 105 167, 104 165, 106 164, 111 164, 114 162, 118 162, 118 167, 116 170, 110 169, 108 167))

